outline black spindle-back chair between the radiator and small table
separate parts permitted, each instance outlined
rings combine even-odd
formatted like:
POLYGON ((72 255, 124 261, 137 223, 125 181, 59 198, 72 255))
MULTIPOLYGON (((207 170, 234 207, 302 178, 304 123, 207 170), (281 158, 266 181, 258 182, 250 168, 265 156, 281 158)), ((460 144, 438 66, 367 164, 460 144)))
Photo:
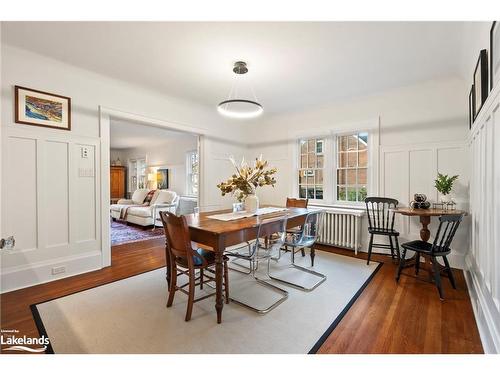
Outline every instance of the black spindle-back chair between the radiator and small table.
POLYGON ((370 233, 370 244, 368 245, 368 260, 366 264, 370 264, 372 249, 374 247, 382 249, 391 249, 391 257, 400 259, 399 253, 399 232, 394 230, 393 209, 398 207, 398 201, 392 198, 383 197, 367 197, 365 199, 366 213, 368 215, 368 233, 370 233), (374 243, 374 236, 386 236, 389 238, 389 244, 374 243), (392 239, 395 243, 393 244, 392 239), (395 254, 396 253, 396 254, 395 254))

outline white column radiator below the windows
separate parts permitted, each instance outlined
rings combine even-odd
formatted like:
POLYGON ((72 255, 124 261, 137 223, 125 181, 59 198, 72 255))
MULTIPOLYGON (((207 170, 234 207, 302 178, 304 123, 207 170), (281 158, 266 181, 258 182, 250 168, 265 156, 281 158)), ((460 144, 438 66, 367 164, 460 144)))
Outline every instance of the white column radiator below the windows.
POLYGON ((319 243, 353 249, 360 248, 360 229, 363 211, 327 210, 323 216, 323 230, 319 243))

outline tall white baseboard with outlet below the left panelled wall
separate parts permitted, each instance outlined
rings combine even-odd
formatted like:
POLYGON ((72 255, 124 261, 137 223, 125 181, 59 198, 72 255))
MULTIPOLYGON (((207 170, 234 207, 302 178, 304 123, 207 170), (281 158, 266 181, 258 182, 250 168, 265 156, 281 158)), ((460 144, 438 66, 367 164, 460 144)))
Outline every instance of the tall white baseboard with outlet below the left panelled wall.
POLYGON ((66 277, 102 268, 102 253, 92 251, 76 256, 51 259, 50 261, 2 270, 1 293, 48 283, 66 277), (52 268, 64 266, 66 271, 53 275, 52 268))

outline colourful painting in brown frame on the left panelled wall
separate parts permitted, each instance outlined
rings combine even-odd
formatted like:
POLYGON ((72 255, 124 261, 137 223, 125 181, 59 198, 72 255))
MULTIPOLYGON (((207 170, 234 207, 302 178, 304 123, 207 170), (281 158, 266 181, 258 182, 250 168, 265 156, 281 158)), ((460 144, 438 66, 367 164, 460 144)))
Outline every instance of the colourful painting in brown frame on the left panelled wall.
POLYGON ((15 86, 18 124, 71 130, 71 98, 15 86))

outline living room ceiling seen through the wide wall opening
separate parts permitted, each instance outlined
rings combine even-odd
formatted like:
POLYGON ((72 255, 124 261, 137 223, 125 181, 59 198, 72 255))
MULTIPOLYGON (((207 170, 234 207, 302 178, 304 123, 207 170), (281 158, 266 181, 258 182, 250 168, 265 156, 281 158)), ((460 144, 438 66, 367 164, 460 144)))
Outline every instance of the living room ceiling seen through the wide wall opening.
POLYGON ((111 119, 110 147, 112 149, 160 146, 165 144, 166 140, 171 139, 190 140, 196 147, 198 137, 126 120, 111 119))

